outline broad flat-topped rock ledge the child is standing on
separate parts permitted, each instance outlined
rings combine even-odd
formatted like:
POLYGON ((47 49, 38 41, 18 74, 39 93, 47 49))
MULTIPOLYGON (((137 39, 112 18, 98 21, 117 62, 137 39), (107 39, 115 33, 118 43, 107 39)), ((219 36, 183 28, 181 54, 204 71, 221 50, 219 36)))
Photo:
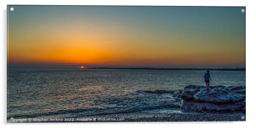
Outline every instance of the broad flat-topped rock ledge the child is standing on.
POLYGON ((180 107, 194 111, 236 111, 245 110, 245 86, 185 86, 180 107))

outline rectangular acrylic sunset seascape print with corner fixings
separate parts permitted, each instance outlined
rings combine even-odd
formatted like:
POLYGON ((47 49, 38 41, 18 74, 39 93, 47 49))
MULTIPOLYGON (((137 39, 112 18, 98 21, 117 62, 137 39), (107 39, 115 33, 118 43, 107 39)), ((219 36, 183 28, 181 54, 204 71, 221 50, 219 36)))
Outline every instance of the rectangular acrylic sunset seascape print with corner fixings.
POLYGON ((245 7, 7 10, 7 122, 245 121, 245 7))

